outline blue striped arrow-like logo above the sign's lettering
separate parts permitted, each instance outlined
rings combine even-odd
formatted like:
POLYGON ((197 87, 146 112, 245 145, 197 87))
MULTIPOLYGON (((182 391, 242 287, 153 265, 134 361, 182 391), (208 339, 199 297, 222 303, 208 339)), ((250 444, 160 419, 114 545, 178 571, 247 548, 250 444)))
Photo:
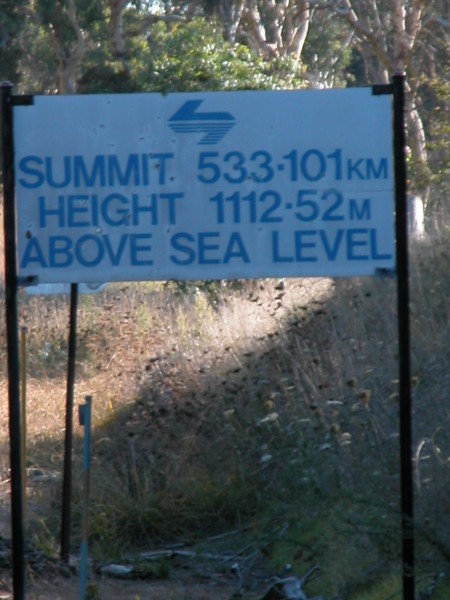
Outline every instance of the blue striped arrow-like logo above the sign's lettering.
POLYGON ((198 142, 206 146, 217 144, 236 123, 228 112, 197 112, 203 100, 188 100, 169 119, 169 127, 175 133, 204 133, 198 142))

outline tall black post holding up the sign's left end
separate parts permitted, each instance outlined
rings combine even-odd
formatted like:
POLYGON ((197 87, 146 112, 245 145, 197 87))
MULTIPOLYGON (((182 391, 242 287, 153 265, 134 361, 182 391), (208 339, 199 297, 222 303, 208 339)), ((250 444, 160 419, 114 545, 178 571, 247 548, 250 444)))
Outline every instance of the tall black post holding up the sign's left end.
POLYGON ((25 535, 23 523, 20 354, 17 301, 16 213, 12 84, 0 85, 3 153, 3 223, 5 231, 5 307, 8 349, 11 528, 14 600, 25 598, 25 535))

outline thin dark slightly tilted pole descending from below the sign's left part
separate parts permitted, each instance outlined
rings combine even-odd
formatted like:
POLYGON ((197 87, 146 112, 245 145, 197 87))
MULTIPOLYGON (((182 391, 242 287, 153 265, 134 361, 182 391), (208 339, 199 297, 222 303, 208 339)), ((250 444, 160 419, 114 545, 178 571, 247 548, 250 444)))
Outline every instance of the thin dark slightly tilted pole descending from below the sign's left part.
POLYGON ((66 430, 64 438, 64 475, 61 515, 61 559, 69 561, 72 502, 72 448, 75 365, 77 352, 78 284, 70 286, 69 350, 67 357, 66 430))

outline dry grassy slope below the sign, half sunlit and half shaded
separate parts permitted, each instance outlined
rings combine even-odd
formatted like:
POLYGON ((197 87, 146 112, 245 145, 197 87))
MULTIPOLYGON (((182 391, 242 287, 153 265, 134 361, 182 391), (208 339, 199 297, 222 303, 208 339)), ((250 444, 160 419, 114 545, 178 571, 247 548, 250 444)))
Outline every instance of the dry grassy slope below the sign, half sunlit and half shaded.
MULTIPOLYGON (((413 253, 421 588, 450 556, 449 246, 413 253)), ((385 600, 401 559, 395 282, 275 285, 229 285, 212 299, 119 285, 83 298, 76 400, 94 396, 93 551, 117 557, 238 529, 237 547, 251 549, 244 566, 253 555, 272 574, 319 564, 308 593, 385 600)), ((47 477, 62 468, 67 310, 67 299, 21 297, 27 461, 47 477)), ((6 399, 1 416, 5 479, 6 399)), ((77 476, 79 450, 77 439, 77 476)), ((30 529, 54 550, 59 483, 52 502, 50 489, 31 480, 30 529)))

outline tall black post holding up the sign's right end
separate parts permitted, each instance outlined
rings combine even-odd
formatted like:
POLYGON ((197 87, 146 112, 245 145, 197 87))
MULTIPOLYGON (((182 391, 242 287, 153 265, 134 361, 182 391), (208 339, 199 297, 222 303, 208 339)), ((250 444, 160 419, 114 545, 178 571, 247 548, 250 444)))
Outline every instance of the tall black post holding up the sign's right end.
POLYGON ((400 386, 400 470, 403 542, 403 598, 414 600, 414 481, 409 327, 409 265, 405 135, 405 76, 393 77, 394 169, 397 240, 397 311, 400 386))

